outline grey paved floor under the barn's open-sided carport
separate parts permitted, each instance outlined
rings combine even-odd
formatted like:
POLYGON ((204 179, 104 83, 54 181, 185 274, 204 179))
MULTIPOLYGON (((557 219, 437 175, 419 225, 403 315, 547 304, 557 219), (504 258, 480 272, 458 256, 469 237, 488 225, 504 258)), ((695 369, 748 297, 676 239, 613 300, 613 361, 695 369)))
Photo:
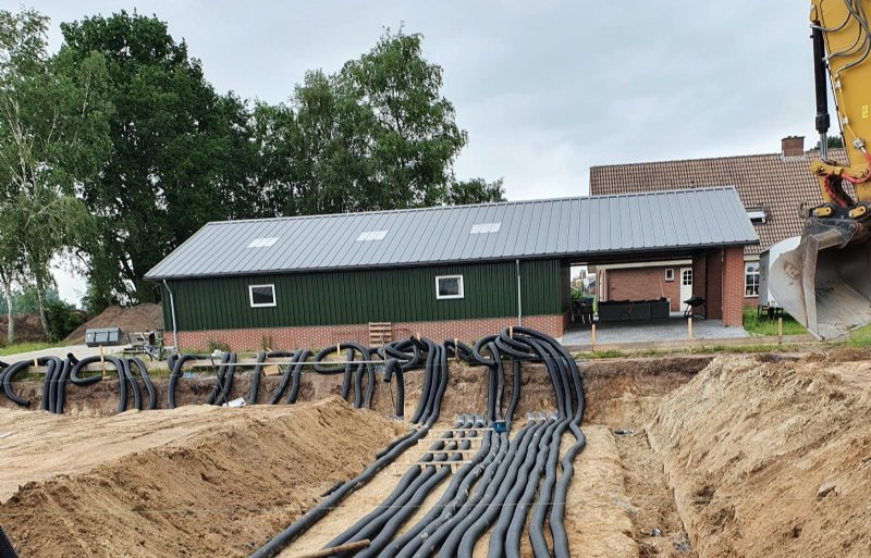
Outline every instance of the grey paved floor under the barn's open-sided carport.
MULTIPOLYGON (((735 339, 749 336, 744 327, 724 327, 720 320, 692 320, 692 337, 696 339, 735 339)), ((650 322, 606 322, 596 326, 597 346, 676 342, 687 338, 687 322, 683 318, 650 322)), ((562 339, 566 346, 589 345, 590 342, 589 325, 565 332, 562 339)))

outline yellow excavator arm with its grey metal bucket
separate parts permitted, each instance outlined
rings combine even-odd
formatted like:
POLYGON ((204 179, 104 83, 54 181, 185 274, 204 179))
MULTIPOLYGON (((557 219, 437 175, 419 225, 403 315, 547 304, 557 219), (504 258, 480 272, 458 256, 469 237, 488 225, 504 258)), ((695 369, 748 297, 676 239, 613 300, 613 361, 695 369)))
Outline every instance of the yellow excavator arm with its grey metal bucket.
POLYGON ((817 132, 810 164, 821 206, 809 210, 798 247, 769 270, 777 302, 818 339, 871 323, 871 0, 812 0, 817 132), (830 159, 829 88, 848 161, 830 159))

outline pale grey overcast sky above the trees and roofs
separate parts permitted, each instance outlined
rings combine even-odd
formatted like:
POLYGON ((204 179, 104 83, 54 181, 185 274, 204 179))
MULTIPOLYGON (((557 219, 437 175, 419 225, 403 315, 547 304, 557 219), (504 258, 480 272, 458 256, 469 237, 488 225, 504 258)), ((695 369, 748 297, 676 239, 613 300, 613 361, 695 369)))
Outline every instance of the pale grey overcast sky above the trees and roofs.
MULTIPOLYGON (((443 94, 469 134, 457 175, 504 177, 512 200, 587 194, 591 165, 775 152, 787 135, 815 142, 808 2, 32 5, 52 20, 52 48, 61 22, 156 14, 217 90, 269 102, 286 100, 307 70, 334 72, 404 25, 444 69, 443 94)), ((84 282, 68 275, 61 294, 74 300, 84 282)))

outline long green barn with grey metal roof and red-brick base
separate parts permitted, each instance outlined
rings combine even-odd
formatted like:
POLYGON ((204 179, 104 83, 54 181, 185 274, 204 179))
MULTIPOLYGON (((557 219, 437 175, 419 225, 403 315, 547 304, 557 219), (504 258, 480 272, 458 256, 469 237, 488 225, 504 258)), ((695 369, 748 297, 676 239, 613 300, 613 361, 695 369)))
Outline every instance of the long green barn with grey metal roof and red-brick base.
POLYGON ((711 188, 216 222, 147 278, 182 347, 471 340, 517 323, 559 337, 571 264, 743 245, 746 221, 733 189, 711 188), (726 226, 674 211, 699 202, 726 226))

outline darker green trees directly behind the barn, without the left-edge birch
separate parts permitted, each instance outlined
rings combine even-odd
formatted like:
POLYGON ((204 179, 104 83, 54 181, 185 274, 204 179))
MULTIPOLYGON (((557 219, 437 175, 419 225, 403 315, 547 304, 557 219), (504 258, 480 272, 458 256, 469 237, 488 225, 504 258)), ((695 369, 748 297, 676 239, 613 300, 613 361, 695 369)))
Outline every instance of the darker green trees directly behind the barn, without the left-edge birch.
POLYGON ((76 197, 94 218, 75 244, 91 308, 155 300, 145 273, 209 221, 503 198, 501 181, 456 178, 468 137, 420 35, 387 30, 270 104, 217 92, 157 17, 122 11, 61 29, 56 58, 99 57, 108 104, 110 154, 76 197))

